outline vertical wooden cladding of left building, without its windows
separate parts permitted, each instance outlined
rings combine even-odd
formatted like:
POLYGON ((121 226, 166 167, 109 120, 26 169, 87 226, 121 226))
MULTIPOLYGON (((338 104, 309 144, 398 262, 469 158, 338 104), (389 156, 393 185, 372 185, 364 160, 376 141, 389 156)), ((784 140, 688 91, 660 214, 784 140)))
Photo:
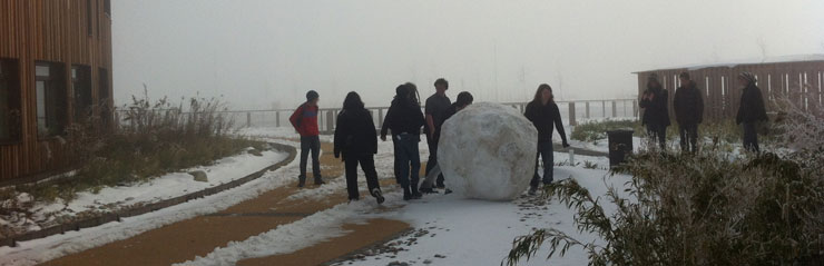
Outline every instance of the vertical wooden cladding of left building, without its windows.
MULTIPOLYGON (((72 65, 90 67, 94 105, 114 105, 108 7, 108 0, 0 1, 0 58, 17 60, 21 126, 18 141, 0 144, 0 181, 46 175, 67 167, 62 141, 38 137, 36 61, 62 66, 67 109, 60 116, 65 116, 67 125, 73 120, 72 65), (106 91, 101 91, 104 86, 106 91)), ((99 114, 100 109, 96 111, 99 114)))

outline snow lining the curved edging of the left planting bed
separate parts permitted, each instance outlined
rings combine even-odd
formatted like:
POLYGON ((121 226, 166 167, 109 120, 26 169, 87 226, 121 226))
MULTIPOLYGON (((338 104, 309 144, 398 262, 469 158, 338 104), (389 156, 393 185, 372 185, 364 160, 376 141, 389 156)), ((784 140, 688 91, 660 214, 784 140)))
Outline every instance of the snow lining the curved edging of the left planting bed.
MULTIPOLYGON (((272 164, 276 164, 277 161, 281 161, 285 158, 286 155, 284 155, 283 152, 274 151, 269 152, 269 155, 265 155, 264 157, 230 157, 224 159, 222 164, 218 164, 214 168, 212 168, 213 174, 209 175, 209 183, 213 183, 213 176, 216 184, 219 184, 220 180, 228 180, 225 179, 228 177, 218 178, 217 174, 230 176, 230 179, 239 178, 247 174, 271 166, 272 164), (263 161, 264 159, 266 161, 263 161)), ((67 231, 62 235, 55 235, 46 238, 21 242, 18 243, 17 247, 0 247, 0 265, 35 265, 69 254, 102 246, 111 242, 126 239, 140 233, 156 229, 179 220, 189 219, 199 215, 217 213, 241 201, 255 198, 265 191, 272 190, 293 181, 293 178, 297 176, 297 160, 294 160, 275 171, 268 171, 264 174, 261 178, 208 197, 190 200, 185 204, 171 206, 135 217, 122 218, 121 221, 112 221, 97 227, 85 228, 79 231, 67 231)), ((192 179, 192 177, 189 176, 188 179, 192 179)), ((176 191, 173 188, 166 189, 161 185, 163 184, 159 184, 159 181, 156 181, 155 185, 151 186, 151 189, 165 190, 167 193, 176 191)), ((185 187, 177 181, 166 185, 175 187, 175 189, 185 187)), ((188 188, 189 191, 200 189, 196 186, 205 186, 206 184, 192 185, 193 187, 188 188)), ((117 190, 111 190, 109 193, 114 194, 116 191, 117 190)), ((133 197, 139 196, 145 198, 154 198, 159 195, 147 193, 143 190, 143 187, 139 188, 139 191, 144 191, 145 194, 141 196, 137 194, 130 194, 129 191, 125 190, 120 190, 119 193, 127 193, 130 194, 133 197)), ((110 198, 115 197, 111 196, 110 198)))

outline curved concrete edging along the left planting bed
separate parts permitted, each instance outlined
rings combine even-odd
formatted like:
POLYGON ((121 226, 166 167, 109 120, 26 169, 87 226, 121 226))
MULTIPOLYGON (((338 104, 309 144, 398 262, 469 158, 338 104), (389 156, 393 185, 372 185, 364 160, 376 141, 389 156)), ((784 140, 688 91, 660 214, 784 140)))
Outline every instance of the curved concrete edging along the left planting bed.
POLYGON ((232 181, 226 183, 226 184, 220 184, 220 185, 217 185, 217 186, 214 186, 214 187, 209 187, 209 188, 206 188, 206 189, 203 189, 203 190, 199 190, 199 191, 194 191, 194 193, 190 193, 190 194, 186 194, 186 195, 183 195, 183 196, 178 196, 178 197, 174 197, 174 198, 160 200, 160 201, 153 203, 153 204, 147 204, 147 205, 139 206, 139 207, 120 209, 120 210, 110 211, 110 213, 104 213, 104 214, 98 215, 96 217, 91 217, 91 218, 87 218, 87 219, 82 219, 82 220, 75 220, 75 221, 70 221, 70 223, 67 223, 67 224, 60 224, 60 225, 47 227, 47 228, 43 228, 43 229, 40 229, 40 230, 36 230, 36 231, 29 231, 29 233, 26 233, 26 234, 22 234, 22 235, 18 235, 18 236, 11 236, 11 237, 7 237, 7 238, 0 238, 0 247, 2 247, 2 246, 14 247, 14 246, 17 246, 17 243, 18 242, 32 240, 32 239, 43 238, 43 237, 53 236, 53 235, 58 235, 58 234, 63 234, 66 231, 80 230, 82 228, 96 227, 96 226, 99 226, 99 225, 102 225, 102 224, 107 224, 107 223, 110 223, 110 221, 120 221, 120 218, 133 217, 133 216, 138 216, 138 215, 143 215, 143 214, 151 213, 151 211, 159 210, 159 209, 167 208, 167 207, 171 207, 171 206, 175 206, 175 205, 178 205, 178 204, 184 204, 184 203, 187 203, 187 201, 193 200, 193 199, 198 199, 198 198, 210 196, 210 195, 214 195, 214 194, 217 194, 217 193, 222 193, 224 190, 227 190, 227 189, 230 189, 230 188, 235 188, 235 187, 238 187, 238 186, 241 186, 243 184, 246 184, 248 181, 252 181, 254 179, 257 179, 261 176, 263 176, 263 174, 265 174, 265 173, 267 173, 269 170, 276 170, 276 169, 278 169, 278 168, 281 168, 281 167, 283 167, 283 166, 292 162, 292 160, 294 160, 295 157, 296 157, 296 155, 297 155, 297 149, 295 147, 292 147, 292 146, 288 146, 288 145, 283 145, 283 144, 276 144, 276 142, 268 142, 268 145, 272 146, 275 149, 284 150, 284 151, 288 152, 288 156, 286 157, 286 159, 284 159, 284 160, 282 160, 282 161, 279 161, 279 162, 277 162, 275 165, 272 165, 269 167, 266 167, 266 168, 264 168, 262 170, 255 171, 255 173, 253 173, 253 174, 251 174, 248 176, 245 176, 245 177, 242 177, 242 178, 232 180, 232 181))

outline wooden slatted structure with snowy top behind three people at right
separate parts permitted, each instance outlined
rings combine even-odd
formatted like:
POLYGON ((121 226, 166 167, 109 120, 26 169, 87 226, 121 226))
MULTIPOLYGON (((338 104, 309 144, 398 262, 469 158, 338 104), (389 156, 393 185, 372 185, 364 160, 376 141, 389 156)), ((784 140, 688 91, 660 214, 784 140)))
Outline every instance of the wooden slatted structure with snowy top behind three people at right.
POLYGON ((804 108, 816 108, 824 104, 824 55, 786 56, 739 62, 685 66, 635 72, 638 75, 638 95, 647 89, 647 79, 657 73, 664 89, 669 91, 670 116, 673 97, 680 86, 678 75, 688 72, 698 89, 704 92, 704 120, 735 119, 740 101, 742 88, 737 77, 740 72, 756 76, 758 88, 764 95, 767 111, 774 111, 772 99, 786 95, 804 108))

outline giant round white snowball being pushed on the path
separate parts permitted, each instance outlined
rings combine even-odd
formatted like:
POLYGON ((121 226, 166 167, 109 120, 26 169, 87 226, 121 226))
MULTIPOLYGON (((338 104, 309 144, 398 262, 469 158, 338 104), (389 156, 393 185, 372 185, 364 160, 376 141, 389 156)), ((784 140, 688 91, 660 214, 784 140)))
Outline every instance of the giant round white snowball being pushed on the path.
POLYGON ((529 186, 537 149, 538 130, 518 109, 480 102, 443 124, 438 164, 458 195, 512 200, 529 186))

